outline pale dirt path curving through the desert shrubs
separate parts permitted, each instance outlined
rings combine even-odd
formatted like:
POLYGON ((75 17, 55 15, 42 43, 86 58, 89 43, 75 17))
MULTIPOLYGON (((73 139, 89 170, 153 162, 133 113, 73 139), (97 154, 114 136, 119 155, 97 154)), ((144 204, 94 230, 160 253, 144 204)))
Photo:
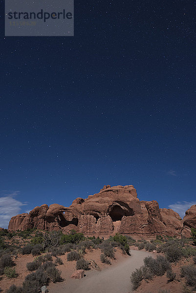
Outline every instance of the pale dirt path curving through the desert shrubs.
POLYGON ((147 251, 131 251, 131 256, 120 264, 101 272, 90 270, 81 280, 69 279, 52 284, 49 293, 131 293, 130 275, 143 265, 144 257, 152 255, 147 251))

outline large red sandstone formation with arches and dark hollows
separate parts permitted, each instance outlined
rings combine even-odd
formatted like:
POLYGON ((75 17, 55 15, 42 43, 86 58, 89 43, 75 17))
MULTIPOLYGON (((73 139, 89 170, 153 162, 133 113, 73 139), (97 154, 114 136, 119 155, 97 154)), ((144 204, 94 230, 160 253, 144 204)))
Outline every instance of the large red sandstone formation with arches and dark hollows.
MULTIPOLYGON (((194 212, 196 214, 195 209, 189 211, 187 217, 193 218, 194 212)), ((49 207, 42 205, 29 214, 14 216, 8 229, 26 230, 34 227, 49 231, 61 229, 64 232, 75 229, 89 235, 119 232, 140 237, 153 234, 179 236, 183 221, 172 209, 159 209, 154 200, 139 201, 132 185, 107 185, 87 199, 76 198, 68 208, 58 204, 49 207)))

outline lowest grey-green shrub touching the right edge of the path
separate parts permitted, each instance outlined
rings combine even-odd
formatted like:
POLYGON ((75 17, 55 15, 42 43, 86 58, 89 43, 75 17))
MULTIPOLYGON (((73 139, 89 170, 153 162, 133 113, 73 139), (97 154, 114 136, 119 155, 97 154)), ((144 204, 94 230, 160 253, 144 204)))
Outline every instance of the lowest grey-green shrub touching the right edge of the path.
POLYGON ((140 267, 131 273, 131 283, 133 290, 136 290, 143 279, 152 279, 152 272, 146 266, 140 267))

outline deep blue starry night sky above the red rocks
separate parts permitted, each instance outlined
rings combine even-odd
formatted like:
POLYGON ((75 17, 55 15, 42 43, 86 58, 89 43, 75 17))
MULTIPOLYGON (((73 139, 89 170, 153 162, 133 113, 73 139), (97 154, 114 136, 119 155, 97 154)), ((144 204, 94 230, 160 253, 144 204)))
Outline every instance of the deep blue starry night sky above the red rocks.
POLYGON ((105 184, 196 202, 194 0, 75 0, 74 37, 0 24, 0 227, 105 184))

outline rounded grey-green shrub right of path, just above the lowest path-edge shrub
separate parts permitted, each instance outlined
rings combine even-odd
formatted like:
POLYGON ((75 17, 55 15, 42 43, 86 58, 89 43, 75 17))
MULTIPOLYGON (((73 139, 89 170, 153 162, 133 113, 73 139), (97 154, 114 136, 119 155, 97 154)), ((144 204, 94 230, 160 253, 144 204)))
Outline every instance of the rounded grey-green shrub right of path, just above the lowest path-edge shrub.
POLYGON ((153 275, 157 276, 162 276, 167 270, 171 269, 170 262, 162 255, 158 255, 156 259, 153 259, 152 256, 145 257, 144 264, 153 275))

